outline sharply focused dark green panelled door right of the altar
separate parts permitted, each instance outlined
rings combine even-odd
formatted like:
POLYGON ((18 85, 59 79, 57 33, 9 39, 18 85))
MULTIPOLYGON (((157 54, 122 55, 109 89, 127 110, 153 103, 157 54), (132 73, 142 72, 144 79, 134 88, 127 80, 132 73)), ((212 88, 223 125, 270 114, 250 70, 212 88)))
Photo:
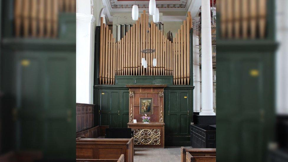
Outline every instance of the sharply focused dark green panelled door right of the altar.
POLYGON ((192 112, 191 90, 165 90, 164 122, 165 145, 190 144, 190 121, 192 112))

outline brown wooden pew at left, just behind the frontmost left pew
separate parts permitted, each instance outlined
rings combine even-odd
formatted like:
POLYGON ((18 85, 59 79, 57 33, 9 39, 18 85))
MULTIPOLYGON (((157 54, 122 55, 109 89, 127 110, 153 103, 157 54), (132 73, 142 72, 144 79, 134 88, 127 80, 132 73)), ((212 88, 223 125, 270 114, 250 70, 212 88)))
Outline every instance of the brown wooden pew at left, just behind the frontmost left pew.
POLYGON ((133 161, 133 138, 81 138, 76 140, 77 159, 117 159, 133 161))

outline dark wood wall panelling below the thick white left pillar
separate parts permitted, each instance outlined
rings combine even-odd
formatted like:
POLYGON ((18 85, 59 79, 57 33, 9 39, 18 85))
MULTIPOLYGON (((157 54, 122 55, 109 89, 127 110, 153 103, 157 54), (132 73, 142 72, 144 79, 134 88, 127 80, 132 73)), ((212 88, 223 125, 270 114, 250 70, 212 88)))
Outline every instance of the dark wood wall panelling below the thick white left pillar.
POLYGON ((94 127, 94 106, 76 103, 76 132, 94 127))

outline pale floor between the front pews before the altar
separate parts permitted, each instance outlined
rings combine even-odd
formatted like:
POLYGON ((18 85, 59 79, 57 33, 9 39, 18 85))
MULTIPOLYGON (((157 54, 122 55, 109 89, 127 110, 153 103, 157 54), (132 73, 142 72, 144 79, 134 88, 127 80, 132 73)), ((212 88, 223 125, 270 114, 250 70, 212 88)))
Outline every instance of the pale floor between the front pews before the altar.
MULTIPOLYGON (((181 147, 165 148, 138 148, 134 147, 135 162, 178 162, 180 161, 181 147)), ((188 148, 188 147, 187 147, 188 148)), ((190 147, 189 147, 190 148, 190 147)))

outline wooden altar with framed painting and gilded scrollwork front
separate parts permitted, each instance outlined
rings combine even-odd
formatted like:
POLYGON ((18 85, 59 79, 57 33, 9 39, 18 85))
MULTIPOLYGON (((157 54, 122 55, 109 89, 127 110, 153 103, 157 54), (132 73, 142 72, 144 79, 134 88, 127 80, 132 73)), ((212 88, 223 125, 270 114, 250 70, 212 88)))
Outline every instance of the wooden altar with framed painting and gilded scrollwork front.
POLYGON ((129 88, 128 128, 135 147, 164 148, 164 88, 166 85, 126 85, 129 88), (142 122, 145 114, 149 123, 142 122), (135 123, 136 122, 136 123, 135 123))

